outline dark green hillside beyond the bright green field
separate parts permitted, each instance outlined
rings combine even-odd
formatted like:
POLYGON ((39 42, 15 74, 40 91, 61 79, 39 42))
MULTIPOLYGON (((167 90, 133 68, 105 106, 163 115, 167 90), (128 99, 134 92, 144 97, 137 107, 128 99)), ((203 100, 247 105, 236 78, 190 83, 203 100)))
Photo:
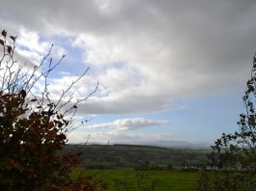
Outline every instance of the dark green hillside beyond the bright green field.
POLYGON ((206 149, 177 149, 138 145, 66 145, 62 152, 81 152, 83 165, 102 168, 138 168, 145 161, 157 166, 197 167, 206 149))

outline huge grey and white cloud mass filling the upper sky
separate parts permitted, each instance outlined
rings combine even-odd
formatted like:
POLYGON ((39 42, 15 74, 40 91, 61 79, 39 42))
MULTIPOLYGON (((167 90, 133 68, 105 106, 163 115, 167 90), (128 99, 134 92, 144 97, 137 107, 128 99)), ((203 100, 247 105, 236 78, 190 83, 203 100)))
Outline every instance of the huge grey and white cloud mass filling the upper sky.
POLYGON ((233 90, 243 85, 256 51, 254 0, 0 2, 4 27, 23 26, 45 36, 90 35, 101 41, 92 54, 112 44, 125 58, 116 54, 106 63, 126 62, 143 76, 128 90, 82 104, 81 113, 148 112, 184 96, 233 90))

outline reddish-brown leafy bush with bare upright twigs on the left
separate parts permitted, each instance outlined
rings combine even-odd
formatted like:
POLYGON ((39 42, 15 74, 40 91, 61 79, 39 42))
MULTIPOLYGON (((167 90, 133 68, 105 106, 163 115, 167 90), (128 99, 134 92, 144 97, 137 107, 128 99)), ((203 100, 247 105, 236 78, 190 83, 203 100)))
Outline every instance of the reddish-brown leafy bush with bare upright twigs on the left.
POLYGON ((16 37, 2 31, 0 39, 0 188, 1 190, 94 190, 93 177, 73 182, 70 171, 81 162, 79 154, 56 154, 67 143, 66 133, 77 104, 72 86, 59 99, 47 89, 55 64, 52 46, 42 63, 28 69, 14 60, 16 37), (42 87, 40 89, 40 87, 42 87), (65 99, 66 98, 66 99, 65 99))

